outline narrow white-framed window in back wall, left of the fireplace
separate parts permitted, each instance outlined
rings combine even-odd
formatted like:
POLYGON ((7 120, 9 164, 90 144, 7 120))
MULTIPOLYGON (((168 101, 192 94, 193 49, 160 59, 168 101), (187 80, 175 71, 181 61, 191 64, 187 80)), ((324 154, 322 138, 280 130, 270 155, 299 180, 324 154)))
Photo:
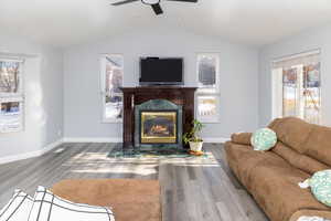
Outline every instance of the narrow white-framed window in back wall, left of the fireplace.
POLYGON ((124 57, 119 54, 102 56, 103 120, 116 123, 122 119, 124 57))

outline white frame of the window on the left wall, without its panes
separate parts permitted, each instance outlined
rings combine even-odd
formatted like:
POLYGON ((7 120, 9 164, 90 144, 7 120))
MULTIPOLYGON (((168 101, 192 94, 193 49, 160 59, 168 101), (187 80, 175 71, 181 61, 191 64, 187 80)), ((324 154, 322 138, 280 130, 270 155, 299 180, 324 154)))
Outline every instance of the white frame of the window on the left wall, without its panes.
POLYGON ((0 107, 2 103, 18 102, 20 104, 20 127, 17 129, 6 129, 1 130, 0 134, 9 134, 9 133, 20 133, 25 129, 25 87, 24 87, 24 59, 8 59, 0 57, 1 62, 18 62, 20 63, 19 69, 19 86, 18 93, 1 93, 0 92, 0 107))

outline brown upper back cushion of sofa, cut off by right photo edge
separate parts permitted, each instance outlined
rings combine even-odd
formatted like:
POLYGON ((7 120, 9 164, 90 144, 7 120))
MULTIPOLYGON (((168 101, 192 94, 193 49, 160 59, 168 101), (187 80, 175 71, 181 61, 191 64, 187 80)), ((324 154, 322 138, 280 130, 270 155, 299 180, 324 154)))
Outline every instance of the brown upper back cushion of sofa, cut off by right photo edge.
POLYGON ((331 166, 331 128, 312 125, 312 130, 307 140, 306 154, 319 161, 331 166))

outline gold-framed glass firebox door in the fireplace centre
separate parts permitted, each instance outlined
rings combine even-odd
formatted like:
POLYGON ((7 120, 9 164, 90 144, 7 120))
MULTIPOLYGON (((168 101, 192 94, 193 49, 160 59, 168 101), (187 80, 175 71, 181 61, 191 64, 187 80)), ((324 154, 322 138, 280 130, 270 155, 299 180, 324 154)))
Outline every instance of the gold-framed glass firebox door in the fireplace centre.
POLYGON ((141 112, 141 144, 175 144, 177 112, 141 112))

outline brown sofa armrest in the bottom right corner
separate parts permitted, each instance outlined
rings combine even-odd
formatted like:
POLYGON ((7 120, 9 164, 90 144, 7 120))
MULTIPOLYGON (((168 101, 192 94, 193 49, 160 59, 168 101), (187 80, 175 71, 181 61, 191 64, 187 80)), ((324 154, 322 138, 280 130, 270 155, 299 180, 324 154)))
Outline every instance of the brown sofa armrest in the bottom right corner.
POLYGON ((329 221, 331 220, 331 210, 299 210, 291 215, 289 221, 309 221, 309 218, 321 218, 322 221, 329 221))

